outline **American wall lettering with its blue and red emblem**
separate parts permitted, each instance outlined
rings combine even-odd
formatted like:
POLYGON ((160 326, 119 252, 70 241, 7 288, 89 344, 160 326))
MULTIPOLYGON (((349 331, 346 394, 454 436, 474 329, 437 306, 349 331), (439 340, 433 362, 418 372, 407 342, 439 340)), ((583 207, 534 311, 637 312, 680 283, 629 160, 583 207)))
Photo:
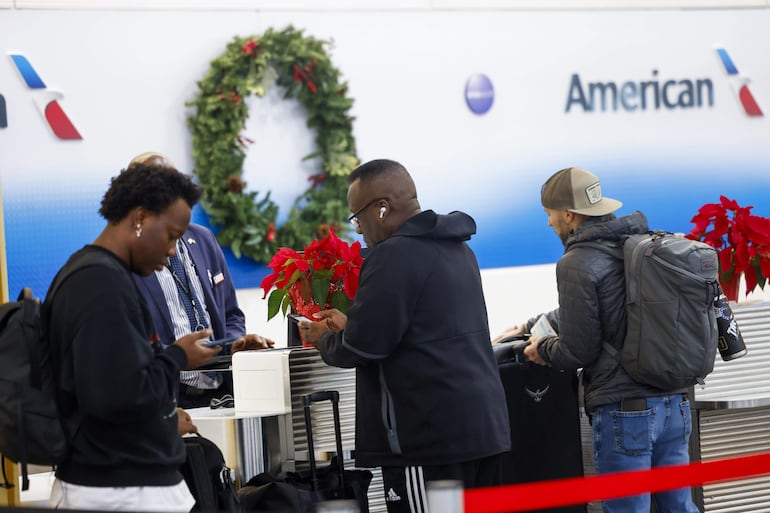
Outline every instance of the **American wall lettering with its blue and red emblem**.
MULTIPOLYGON (((738 73, 723 48, 717 56, 747 116, 762 116, 749 90, 749 78, 738 73)), ((584 81, 578 73, 570 78, 565 112, 617 112, 704 109, 714 106, 714 80, 710 77, 662 77, 657 69, 640 80, 584 81)))

